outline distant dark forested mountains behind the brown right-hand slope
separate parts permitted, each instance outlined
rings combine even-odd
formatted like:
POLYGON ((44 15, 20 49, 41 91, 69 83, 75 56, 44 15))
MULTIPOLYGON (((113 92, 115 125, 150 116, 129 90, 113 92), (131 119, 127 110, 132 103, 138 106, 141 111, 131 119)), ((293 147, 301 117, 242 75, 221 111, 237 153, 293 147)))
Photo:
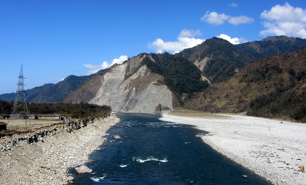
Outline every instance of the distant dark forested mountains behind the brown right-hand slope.
POLYGON ((236 45, 213 37, 176 55, 193 62, 212 83, 220 83, 230 79, 253 61, 300 51, 305 47, 306 39, 286 36, 267 37, 260 41, 236 45))

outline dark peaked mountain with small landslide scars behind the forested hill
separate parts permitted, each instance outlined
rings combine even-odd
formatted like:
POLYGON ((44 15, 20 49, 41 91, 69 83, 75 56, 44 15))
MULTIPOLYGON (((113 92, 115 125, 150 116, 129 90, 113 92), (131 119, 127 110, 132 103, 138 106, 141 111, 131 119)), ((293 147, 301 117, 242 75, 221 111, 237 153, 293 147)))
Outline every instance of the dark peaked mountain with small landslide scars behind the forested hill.
POLYGON ((192 61, 212 83, 230 79, 236 74, 236 69, 250 63, 249 57, 236 45, 217 37, 184 49, 177 55, 192 61))

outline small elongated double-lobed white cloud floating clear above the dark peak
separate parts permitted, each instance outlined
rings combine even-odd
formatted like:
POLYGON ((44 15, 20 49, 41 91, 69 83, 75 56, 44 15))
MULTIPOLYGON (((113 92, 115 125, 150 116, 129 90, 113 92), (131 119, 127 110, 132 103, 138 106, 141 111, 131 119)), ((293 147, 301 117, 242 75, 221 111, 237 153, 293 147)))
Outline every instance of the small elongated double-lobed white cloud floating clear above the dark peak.
POLYGON ((206 14, 201 18, 201 21, 206 21, 213 25, 221 25, 224 24, 225 21, 228 21, 233 25, 239 25, 239 24, 254 22, 254 19, 247 17, 245 15, 239 17, 232 17, 224 13, 218 14, 217 12, 207 11, 206 14))

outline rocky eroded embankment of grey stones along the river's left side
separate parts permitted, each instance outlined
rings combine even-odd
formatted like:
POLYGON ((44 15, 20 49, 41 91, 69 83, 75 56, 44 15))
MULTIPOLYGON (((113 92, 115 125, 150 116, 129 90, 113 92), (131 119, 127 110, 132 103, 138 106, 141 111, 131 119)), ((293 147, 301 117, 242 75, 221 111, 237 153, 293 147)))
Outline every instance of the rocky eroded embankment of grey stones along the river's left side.
POLYGON ((70 122, 0 139, 0 184, 65 184, 69 168, 88 162, 115 115, 70 122))

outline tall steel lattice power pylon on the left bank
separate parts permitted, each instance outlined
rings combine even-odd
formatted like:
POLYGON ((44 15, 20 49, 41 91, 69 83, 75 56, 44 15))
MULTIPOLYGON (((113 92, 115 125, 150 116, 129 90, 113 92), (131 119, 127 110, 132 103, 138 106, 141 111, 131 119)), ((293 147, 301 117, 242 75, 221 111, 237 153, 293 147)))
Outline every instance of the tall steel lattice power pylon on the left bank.
POLYGON ((25 124, 27 125, 27 123, 30 123, 30 121, 28 120, 29 111, 28 111, 28 106, 27 106, 27 102, 25 101, 25 95, 24 95, 24 87, 23 87, 24 77, 23 77, 22 64, 21 64, 20 74, 18 78, 19 78, 19 81, 17 83, 18 88, 16 91, 16 98, 15 98, 15 102, 14 102, 12 112, 11 112, 11 118, 17 119, 19 116, 23 116, 24 117, 23 120, 25 124))

